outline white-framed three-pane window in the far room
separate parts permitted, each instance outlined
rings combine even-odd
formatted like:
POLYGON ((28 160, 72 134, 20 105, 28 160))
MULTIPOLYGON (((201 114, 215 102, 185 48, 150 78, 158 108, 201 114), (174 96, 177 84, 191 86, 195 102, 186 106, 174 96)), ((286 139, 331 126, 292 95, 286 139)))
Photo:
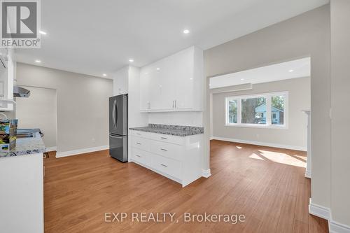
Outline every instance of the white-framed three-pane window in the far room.
POLYGON ((288 92, 226 97, 225 125, 238 127, 287 127, 288 92))

